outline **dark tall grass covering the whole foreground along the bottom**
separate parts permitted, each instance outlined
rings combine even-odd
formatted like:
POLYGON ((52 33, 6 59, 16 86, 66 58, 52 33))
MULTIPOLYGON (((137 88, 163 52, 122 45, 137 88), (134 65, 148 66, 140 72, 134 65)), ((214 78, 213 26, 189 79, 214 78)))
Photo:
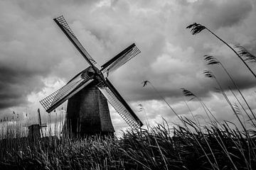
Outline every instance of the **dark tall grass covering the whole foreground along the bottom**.
POLYGON ((254 134, 185 118, 182 127, 162 123, 121 139, 7 139, 0 142, 0 169, 256 169, 254 134))

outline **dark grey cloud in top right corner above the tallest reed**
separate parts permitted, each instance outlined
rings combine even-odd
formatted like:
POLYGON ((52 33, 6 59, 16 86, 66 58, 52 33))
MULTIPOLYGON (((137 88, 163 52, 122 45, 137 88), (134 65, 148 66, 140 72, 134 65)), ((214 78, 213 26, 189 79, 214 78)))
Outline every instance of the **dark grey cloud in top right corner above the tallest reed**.
POLYGON ((248 0, 200 0, 196 1, 193 6, 197 12, 194 20, 201 21, 203 24, 215 29, 238 25, 252 11, 252 3, 248 0))

